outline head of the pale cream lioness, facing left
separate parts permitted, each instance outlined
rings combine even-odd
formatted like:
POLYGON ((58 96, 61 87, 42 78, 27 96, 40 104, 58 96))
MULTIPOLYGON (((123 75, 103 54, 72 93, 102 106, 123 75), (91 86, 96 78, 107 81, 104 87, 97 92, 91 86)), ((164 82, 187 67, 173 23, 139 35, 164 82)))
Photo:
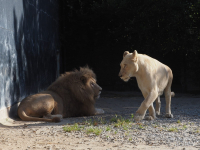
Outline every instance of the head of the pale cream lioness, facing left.
POLYGON ((131 77, 134 77, 134 74, 138 71, 138 57, 137 51, 129 53, 128 51, 124 52, 123 60, 120 63, 121 69, 119 72, 119 77, 127 82, 131 77))

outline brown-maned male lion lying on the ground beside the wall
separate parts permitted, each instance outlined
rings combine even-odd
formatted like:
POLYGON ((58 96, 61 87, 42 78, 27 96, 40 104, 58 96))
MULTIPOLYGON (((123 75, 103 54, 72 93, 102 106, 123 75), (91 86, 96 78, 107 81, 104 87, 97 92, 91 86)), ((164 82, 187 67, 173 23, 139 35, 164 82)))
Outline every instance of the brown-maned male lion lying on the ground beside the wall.
POLYGON ((102 114, 102 109, 94 107, 101 90, 96 75, 88 67, 66 72, 46 91, 23 99, 18 115, 24 121, 60 122, 62 117, 102 114))

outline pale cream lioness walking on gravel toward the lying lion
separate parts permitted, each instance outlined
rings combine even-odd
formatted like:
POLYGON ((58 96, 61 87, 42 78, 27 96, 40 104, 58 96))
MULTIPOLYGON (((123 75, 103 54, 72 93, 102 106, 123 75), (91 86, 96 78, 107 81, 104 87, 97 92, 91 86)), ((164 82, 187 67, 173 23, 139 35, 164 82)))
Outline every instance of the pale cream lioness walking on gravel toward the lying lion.
POLYGON ((124 52, 123 60, 120 64, 121 70, 119 76, 127 82, 131 77, 136 77, 138 86, 145 100, 136 111, 134 119, 136 121, 144 119, 147 109, 149 116, 145 119, 153 120, 156 114, 160 114, 160 95, 165 93, 166 100, 166 117, 172 118, 171 114, 171 84, 173 74, 171 69, 161 62, 147 55, 138 54, 135 50, 133 53, 124 52), (153 102, 156 100, 156 113, 153 107, 153 102))

